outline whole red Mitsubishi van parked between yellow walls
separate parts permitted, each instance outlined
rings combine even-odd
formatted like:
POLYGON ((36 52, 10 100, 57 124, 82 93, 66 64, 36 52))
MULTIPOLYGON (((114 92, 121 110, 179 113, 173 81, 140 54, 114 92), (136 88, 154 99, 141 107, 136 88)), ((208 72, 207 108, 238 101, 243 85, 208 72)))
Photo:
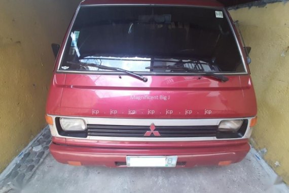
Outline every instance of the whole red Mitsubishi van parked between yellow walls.
POLYGON ((53 48, 46 120, 58 162, 193 167, 248 153, 250 59, 219 2, 86 0, 53 48))

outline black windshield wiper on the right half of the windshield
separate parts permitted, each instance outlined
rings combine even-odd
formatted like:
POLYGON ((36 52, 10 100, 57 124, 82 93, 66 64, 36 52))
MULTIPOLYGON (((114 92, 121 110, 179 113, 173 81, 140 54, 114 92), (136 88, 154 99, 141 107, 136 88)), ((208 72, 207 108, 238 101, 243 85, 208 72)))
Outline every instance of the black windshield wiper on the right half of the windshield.
POLYGON ((194 72, 194 73, 203 73, 206 76, 211 76, 215 79, 221 80, 222 82, 227 82, 229 78, 221 75, 221 74, 214 74, 212 72, 206 72, 204 70, 195 70, 195 69, 190 69, 187 67, 182 67, 182 66, 153 66, 153 67, 146 67, 146 69, 167 69, 167 70, 180 70, 180 71, 187 71, 187 72, 194 72))

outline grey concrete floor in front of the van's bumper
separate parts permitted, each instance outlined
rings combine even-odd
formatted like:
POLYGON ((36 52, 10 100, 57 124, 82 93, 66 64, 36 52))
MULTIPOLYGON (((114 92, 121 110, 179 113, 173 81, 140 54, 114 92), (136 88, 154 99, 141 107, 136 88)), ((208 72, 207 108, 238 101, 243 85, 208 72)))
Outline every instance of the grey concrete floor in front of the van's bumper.
MULTIPOLYGON (((272 180, 252 149, 238 164, 226 167, 104 168, 57 163, 51 154, 23 192, 273 192, 272 180)), ((275 191, 283 192, 283 191, 275 191)))

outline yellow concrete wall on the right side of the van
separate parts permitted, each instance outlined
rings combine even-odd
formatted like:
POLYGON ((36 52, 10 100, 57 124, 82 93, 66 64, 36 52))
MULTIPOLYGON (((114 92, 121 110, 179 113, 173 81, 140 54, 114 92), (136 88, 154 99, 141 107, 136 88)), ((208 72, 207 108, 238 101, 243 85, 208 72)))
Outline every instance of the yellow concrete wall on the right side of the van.
POLYGON ((258 102, 252 141, 289 183, 289 3, 230 11, 251 46, 251 75, 258 102))

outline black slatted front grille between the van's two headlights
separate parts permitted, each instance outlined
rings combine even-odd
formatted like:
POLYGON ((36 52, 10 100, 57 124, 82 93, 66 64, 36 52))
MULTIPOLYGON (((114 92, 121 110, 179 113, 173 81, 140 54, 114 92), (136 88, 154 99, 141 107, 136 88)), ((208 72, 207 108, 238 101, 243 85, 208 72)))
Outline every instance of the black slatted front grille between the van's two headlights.
POLYGON ((144 137, 144 138, 175 138, 175 137, 215 137, 218 125, 205 126, 156 126, 154 131, 159 132, 160 136, 151 134, 144 136, 146 132, 150 132, 148 126, 133 125, 100 125, 88 124, 88 136, 102 137, 144 137))

